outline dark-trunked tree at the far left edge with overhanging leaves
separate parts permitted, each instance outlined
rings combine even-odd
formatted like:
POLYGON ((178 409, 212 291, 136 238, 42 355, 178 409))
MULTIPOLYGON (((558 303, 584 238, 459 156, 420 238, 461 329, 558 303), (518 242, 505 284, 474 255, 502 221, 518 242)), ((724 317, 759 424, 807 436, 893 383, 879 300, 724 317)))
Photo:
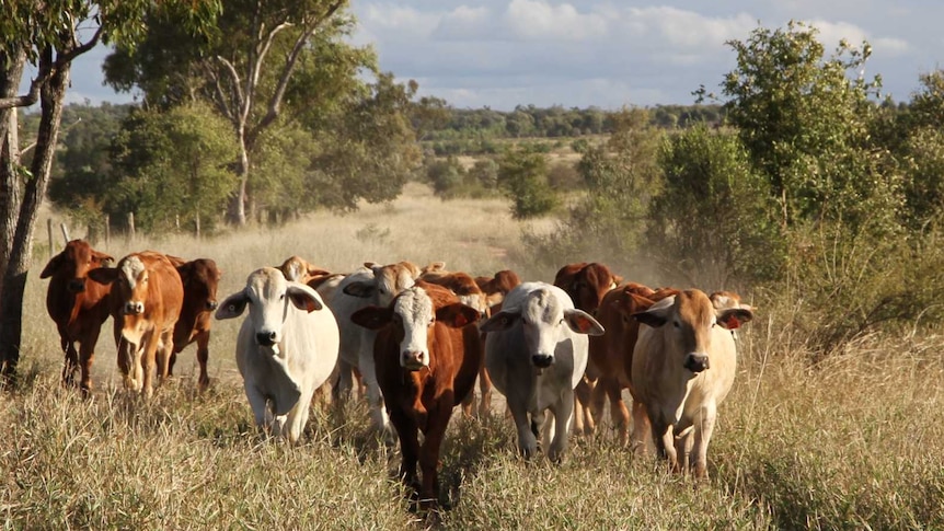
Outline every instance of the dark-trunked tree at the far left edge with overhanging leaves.
MULTIPOLYGON (((177 4, 176 2, 166 2, 177 4)), ((0 373, 15 376, 22 340, 23 292, 33 253, 33 228, 46 194, 72 60, 99 42, 131 44, 152 2, 14 0, 0 18, 0 373), (80 27, 97 28, 91 35, 80 27), (37 68, 26 94, 16 95, 26 64, 37 68), (24 164, 18 108, 39 102, 32 160, 24 164)), ((216 15, 215 2, 180 2, 182 27, 198 31, 216 15)))

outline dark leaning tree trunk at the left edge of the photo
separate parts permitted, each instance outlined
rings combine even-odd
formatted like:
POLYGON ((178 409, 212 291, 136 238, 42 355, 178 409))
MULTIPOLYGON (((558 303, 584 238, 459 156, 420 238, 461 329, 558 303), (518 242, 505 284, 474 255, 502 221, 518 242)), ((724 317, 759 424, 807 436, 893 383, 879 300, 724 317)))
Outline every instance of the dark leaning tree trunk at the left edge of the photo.
MULTIPOLYGON (((41 68, 43 61, 53 61, 53 56, 51 49, 43 50, 41 68)), ((68 62, 57 65, 55 72, 42 89, 39 131, 36 135, 36 150, 30 166, 32 175, 25 181, 10 259, 3 275, 3 297, 0 297, 0 373, 8 381, 15 378, 16 365, 20 361, 23 293, 33 257, 33 227, 49 183, 59 124, 62 118, 62 103, 66 89, 69 86, 70 68, 71 65, 68 62)), ((10 138, 9 135, 7 138, 10 138)), ((7 184, 8 182, 4 181, 4 187, 7 184)))

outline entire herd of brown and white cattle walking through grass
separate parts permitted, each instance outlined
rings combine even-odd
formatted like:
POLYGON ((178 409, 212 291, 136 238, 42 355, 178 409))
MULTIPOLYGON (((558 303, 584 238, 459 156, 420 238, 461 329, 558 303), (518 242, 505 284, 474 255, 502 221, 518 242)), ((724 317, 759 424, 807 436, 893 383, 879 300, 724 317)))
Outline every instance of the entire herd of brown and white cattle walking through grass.
POLYGON ((426 506, 438 498, 439 448, 453 409, 488 414, 493 386, 507 400, 526 458, 545 449, 561 460, 568 434, 592 434, 609 401, 624 445, 645 453, 652 443, 674 471, 706 477, 717 406, 734 383, 734 331, 753 316, 737 293, 651 289, 599 263, 565 265, 552 285, 522 282, 511 270, 472 277, 441 262, 366 263, 337 274, 292 256, 250 273, 218 303, 211 259, 146 251, 112 262, 73 240, 41 274, 49 278, 65 384, 81 371, 78 386, 91 390, 95 344, 111 315, 127 389, 151 396, 153 379, 169 378, 191 343, 204 389, 214 312, 246 314, 235 359, 260 428, 296 443, 315 394, 343 403, 358 389, 371 428, 399 439, 401 478, 426 506))

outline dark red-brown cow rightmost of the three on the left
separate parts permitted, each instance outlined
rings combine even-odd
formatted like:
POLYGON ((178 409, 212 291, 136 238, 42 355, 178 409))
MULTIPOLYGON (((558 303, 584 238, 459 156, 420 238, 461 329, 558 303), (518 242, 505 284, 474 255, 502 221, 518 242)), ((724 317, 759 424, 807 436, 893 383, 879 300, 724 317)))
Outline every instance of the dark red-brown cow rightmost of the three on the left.
POLYGON ((183 308, 177 324, 174 325, 174 349, 168 363, 168 376, 174 374, 177 354, 196 342, 197 362, 200 366, 197 383, 204 390, 210 383, 210 377, 207 373, 207 360, 210 356, 210 324, 212 324, 212 312, 219 305, 217 286, 219 286, 221 273, 216 262, 209 258, 197 258, 191 262, 173 256, 168 258, 176 267, 184 287, 183 308))

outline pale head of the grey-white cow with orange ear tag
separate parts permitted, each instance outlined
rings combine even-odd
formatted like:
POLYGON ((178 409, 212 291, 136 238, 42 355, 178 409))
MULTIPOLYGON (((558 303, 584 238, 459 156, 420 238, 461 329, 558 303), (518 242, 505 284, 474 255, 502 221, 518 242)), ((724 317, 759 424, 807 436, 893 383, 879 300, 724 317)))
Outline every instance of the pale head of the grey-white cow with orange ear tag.
POLYGON ((480 330, 500 332, 518 323, 523 331, 525 347, 531 362, 539 369, 554 362, 557 343, 567 339, 566 330, 577 334, 603 334, 603 326, 596 319, 583 310, 571 308, 566 293, 553 286, 533 289, 519 307, 503 309, 482 323, 480 330))

